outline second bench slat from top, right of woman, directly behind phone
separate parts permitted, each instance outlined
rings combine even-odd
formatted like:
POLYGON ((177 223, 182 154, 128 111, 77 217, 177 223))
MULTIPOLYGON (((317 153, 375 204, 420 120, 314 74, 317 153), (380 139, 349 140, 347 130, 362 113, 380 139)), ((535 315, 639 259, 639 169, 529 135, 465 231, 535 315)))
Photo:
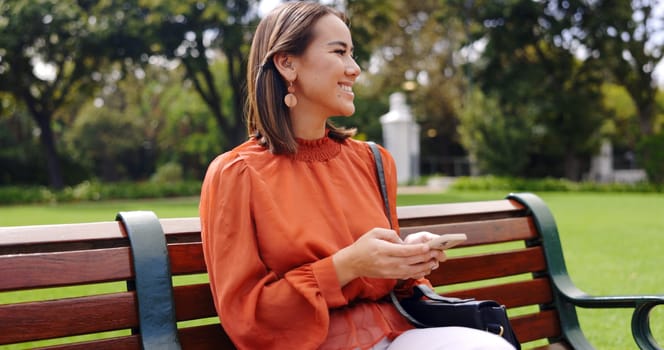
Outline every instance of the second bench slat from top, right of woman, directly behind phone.
POLYGON ((401 235, 406 236, 419 231, 429 231, 435 234, 465 233, 468 240, 460 244, 459 247, 527 240, 537 237, 537 230, 532 219, 526 217, 411 226, 401 228, 401 235))

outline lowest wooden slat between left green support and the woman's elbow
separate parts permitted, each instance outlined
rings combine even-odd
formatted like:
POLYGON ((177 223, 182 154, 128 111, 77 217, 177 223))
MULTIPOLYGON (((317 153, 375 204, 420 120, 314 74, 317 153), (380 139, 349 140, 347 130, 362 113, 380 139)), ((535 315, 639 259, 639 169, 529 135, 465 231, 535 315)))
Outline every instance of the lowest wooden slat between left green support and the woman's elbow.
POLYGON ((187 350, 235 350, 219 324, 179 329, 180 345, 187 350))

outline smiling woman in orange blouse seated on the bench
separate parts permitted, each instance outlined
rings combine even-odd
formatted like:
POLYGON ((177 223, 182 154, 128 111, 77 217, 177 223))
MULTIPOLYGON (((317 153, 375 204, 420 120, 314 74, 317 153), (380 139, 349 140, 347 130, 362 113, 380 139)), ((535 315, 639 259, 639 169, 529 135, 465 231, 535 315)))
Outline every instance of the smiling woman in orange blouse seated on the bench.
MULTIPOLYGON (((445 255, 424 244, 433 234, 402 241, 389 229, 369 148, 328 121, 355 111, 352 53, 344 16, 316 3, 283 4, 256 29, 250 139, 210 164, 201 191, 224 329, 240 349, 434 349, 455 339, 510 349, 481 331, 413 330, 385 301, 395 287, 428 283, 445 255)), ((381 153, 396 217, 394 160, 381 153)))

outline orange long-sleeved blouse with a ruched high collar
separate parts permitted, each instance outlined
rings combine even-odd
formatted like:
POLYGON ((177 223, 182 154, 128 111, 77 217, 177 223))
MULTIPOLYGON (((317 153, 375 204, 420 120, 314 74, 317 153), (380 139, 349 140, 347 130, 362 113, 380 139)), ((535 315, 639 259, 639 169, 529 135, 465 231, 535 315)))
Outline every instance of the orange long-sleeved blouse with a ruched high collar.
MULTIPOLYGON (((384 301, 395 280, 341 287, 332 263, 389 227, 371 150, 352 139, 298 143, 296 155, 274 155, 252 139, 210 164, 200 217, 217 312, 239 349, 369 349, 412 328, 384 301)), ((381 153, 396 218, 395 164, 381 153)))

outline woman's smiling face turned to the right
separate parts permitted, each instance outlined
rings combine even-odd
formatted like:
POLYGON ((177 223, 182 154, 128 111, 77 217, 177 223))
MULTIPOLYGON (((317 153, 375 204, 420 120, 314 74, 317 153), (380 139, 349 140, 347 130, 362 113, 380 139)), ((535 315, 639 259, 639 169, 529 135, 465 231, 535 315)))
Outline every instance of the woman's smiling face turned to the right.
POLYGON ((298 102, 291 113, 327 118, 355 112, 352 86, 360 67, 353 59, 350 31, 340 18, 321 17, 314 25, 313 40, 293 64, 298 102))

